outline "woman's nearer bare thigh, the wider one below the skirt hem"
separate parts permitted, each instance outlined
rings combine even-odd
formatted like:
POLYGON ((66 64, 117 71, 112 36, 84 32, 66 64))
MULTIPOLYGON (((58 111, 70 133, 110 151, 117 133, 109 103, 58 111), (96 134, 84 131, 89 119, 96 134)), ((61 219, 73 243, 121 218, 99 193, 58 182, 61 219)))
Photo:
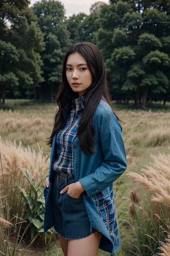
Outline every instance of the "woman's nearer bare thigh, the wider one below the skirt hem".
POLYGON ((67 256, 97 256, 101 233, 95 232, 88 237, 69 240, 67 256))

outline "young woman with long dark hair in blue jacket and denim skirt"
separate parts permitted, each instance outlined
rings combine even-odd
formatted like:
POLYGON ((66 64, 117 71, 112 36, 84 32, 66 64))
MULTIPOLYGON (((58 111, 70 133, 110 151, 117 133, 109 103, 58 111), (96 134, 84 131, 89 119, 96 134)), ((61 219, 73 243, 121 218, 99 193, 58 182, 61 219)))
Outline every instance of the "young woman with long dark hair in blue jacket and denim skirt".
POLYGON ((97 256, 99 248, 114 255, 121 239, 113 182, 126 170, 126 152, 104 59, 94 44, 68 49, 57 104, 44 234, 54 226, 65 256, 97 256))

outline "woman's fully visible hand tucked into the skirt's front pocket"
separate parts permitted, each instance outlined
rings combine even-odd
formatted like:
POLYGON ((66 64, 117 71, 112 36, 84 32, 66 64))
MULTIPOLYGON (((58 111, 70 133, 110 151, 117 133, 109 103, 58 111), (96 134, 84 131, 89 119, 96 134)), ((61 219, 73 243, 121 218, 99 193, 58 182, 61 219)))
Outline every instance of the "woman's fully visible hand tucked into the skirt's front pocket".
POLYGON ((80 181, 77 181, 75 183, 71 183, 67 187, 63 188, 60 192, 60 194, 63 194, 67 191, 69 196, 79 198, 81 193, 85 191, 84 187, 82 186, 80 181))

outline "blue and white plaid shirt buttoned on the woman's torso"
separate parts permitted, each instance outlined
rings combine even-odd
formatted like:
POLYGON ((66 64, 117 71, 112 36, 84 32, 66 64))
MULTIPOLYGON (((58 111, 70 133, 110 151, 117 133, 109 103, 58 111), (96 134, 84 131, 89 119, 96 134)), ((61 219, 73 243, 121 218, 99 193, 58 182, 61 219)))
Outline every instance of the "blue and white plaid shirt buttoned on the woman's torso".
POLYGON ((72 147, 84 106, 83 96, 72 101, 72 109, 65 127, 56 136, 58 159, 53 165, 55 171, 73 174, 72 147))

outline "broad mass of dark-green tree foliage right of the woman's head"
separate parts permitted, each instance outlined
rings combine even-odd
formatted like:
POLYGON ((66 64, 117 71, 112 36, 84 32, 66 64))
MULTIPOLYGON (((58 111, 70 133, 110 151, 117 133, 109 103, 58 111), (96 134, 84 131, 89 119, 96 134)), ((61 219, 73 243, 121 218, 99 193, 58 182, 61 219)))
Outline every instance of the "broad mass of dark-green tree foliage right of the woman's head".
POLYGON ((93 42, 106 60, 112 92, 145 108, 170 88, 170 1, 110 1, 101 6, 93 42))

